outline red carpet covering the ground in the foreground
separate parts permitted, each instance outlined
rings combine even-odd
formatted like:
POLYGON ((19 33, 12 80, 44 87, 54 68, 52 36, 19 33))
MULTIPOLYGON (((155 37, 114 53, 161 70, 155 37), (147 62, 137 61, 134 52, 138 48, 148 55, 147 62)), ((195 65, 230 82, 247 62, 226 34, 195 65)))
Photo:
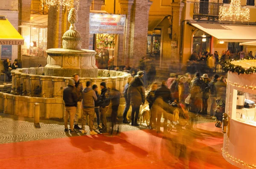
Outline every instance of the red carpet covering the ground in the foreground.
POLYGON ((168 135, 155 130, 0 144, 0 169, 237 169, 221 155, 214 123, 168 135))

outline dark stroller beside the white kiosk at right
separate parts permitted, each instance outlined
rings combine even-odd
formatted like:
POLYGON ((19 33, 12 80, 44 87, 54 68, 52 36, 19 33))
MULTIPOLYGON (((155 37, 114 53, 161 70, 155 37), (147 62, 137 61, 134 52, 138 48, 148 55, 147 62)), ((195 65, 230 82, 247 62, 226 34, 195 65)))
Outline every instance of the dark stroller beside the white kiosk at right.
POLYGON ((216 127, 221 127, 222 123, 222 116, 223 113, 225 113, 225 100, 222 98, 217 98, 216 99, 217 107, 215 108, 214 116, 216 117, 217 122, 215 123, 216 127))

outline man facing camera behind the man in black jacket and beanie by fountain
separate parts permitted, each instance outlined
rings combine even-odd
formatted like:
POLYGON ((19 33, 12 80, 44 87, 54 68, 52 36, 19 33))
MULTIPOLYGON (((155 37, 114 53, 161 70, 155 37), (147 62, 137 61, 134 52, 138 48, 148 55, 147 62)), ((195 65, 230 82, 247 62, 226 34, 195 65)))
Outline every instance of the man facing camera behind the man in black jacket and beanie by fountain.
POLYGON ((81 115, 81 109, 82 109, 82 90, 83 90, 83 85, 79 81, 79 74, 74 74, 73 75, 73 80, 75 80, 75 86, 74 89, 76 91, 77 97, 78 97, 78 102, 77 102, 77 109, 76 109, 76 115, 75 115, 75 120, 74 120, 74 128, 77 130, 81 130, 81 128, 78 126, 78 117, 81 115))

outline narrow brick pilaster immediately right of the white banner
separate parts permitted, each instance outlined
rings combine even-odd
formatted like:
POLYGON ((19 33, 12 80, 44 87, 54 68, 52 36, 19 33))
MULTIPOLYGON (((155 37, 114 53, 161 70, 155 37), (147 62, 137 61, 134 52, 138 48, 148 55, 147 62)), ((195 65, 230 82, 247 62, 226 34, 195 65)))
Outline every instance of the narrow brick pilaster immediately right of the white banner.
MULTIPOLYGON (((122 63, 124 65, 129 64, 130 60, 130 49, 131 49, 131 20, 133 13, 133 4, 134 0, 119 0, 121 7, 121 14, 126 15, 126 26, 125 26, 125 35, 123 43, 123 56, 122 63)), ((141 19, 140 19, 141 20, 141 19)))

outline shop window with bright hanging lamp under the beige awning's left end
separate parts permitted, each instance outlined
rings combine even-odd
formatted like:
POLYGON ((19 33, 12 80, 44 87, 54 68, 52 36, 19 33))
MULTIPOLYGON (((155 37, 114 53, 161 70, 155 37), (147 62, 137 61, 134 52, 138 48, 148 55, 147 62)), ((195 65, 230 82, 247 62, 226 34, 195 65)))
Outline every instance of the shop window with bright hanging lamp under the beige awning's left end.
POLYGON ((209 34, 198 30, 193 37, 193 52, 203 54, 204 52, 211 53, 211 39, 209 34))

